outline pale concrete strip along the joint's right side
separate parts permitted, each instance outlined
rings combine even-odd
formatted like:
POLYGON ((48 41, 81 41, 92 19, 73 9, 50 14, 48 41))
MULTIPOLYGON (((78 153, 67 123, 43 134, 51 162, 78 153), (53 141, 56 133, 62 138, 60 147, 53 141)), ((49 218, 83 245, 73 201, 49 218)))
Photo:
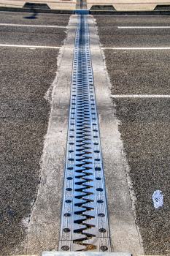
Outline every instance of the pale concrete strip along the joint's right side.
MULTIPOLYGON (((129 187, 128 165, 123 154, 123 142, 118 131, 110 94, 109 76, 93 17, 88 16, 90 29, 90 52, 100 125, 101 150, 104 161, 104 176, 107 189, 109 228, 112 252, 130 252, 143 255, 142 240, 136 227, 129 187)), ((131 188, 132 189, 132 188, 131 188)), ((131 190, 132 191, 132 190, 131 190)))

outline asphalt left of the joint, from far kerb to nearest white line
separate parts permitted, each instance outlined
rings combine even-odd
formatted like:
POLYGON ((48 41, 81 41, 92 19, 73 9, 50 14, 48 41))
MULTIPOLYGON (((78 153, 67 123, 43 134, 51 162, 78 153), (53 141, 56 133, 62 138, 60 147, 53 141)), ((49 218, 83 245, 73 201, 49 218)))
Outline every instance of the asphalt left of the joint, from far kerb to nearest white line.
MULTIPOLYGON (((67 26, 69 15, 2 12, 0 23, 67 26)), ((49 27, 0 26, 1 44, 59 46, 66 29, 49 27)))

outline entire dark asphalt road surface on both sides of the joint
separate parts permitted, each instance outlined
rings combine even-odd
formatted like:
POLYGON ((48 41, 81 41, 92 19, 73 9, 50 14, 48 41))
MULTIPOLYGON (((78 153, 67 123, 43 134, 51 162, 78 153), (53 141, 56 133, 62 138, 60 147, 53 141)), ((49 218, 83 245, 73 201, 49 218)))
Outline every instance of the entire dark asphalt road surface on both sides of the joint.
MULTIPOLYGON (((168 16, 95 16, 104 48, 169 47, 168 16), (118 26, 138 26, 120 28, 118 26)), ((50 113, 45 93, 55 78, 59 47, 69 15, 1 12, 1 173, 0 254, 26 237, 22 220, 31 214, 40 181, 41 156, 50 113), (41 27, 39 27, 41 26, 41 27), (46 26, 46 27, 45 27, 46 26), (58 27, 47 27, 58 26, 58 27), (30 45, 14 48, 12 45, 30 45)), ((170 50, 105 49, 116 116, 136 195, 136 224, 146 255, 168 255, 169 243, 169 95, 170 50), (128 98, 120 97, 122 94, 128 98), (139 94, 139 98, 131 97, 139 94), (145 96, 144 96, 145 95, 145 96), (146 97, 150 95, 150 97, 146 97), (117 96, 117 97, 115 97, 117 96), (163 206, 155 208, 153 192, 163 206)))

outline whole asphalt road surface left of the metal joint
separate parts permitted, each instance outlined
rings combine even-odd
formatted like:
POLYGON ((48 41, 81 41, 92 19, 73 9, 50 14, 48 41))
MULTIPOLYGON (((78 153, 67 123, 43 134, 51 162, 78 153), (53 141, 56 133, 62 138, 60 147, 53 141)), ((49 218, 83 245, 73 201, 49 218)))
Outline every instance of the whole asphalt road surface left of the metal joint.
MULTIPOLYGON (((1 12, 1 45, 61 46, 69 15, 1 12), (63 28, 37 27, 63 26, 63 28)), ((44 136, 50 114, 45 93, 57 71, 58 49, 0 46, 1 172, 0 255, 11 255, 26 236, 39 184, 44 136)))

